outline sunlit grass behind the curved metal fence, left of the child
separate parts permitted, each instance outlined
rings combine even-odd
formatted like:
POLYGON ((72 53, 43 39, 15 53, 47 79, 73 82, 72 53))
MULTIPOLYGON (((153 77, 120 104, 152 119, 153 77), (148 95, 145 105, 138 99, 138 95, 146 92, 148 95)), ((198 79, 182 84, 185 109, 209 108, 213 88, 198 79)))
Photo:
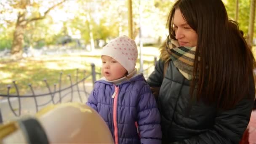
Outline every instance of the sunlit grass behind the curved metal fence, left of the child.
MULTIPOLYGON (((56 58, 56 57, 55 57, 56 58)), ((58 56, 59 59, 63 58, 58 56)), ((78 69, 78 80, 84 76, 91 74, 91 65, 80 61, 65 61, 65 60, 34 60, 33 58, 23 59, 21 61, 13 61, 9 63, 0 64, 0 93, 7 94, 7 86, 11 85, 10 94, 16 94, 13 85, 13 80, 18 85, 19 94, 25 94, 30 91, 28 84, 32 84, 35 90, 46 88, 44 80, 53 87, 54 84, 59 83, 60 73, 61 85, 68 85, 70 83, 68 75, 71 76, 72 83, 75 83, 78 69)), ((99 69, 96 69, 99 71, 99 69)), ((92 77, 86 79, 91 82, 92 77)))

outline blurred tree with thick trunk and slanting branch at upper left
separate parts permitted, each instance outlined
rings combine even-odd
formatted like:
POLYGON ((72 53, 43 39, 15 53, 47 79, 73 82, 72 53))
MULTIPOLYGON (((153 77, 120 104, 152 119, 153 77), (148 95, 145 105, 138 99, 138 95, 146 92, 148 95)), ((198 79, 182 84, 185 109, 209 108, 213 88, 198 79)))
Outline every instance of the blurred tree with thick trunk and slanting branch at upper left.
MULTIPOLYGON (((37 1, 37 0, 1 0, 1 10, 0 13, 7 15, 16 15, 15 29, 13 32, 13 42, 11 46, 11 54, 13 58, 21 58, 23 53, 23 43, 24 43, 24 31, 29 23, 32 21, 38 21, 45 19, 47 14, 56 6, 61 5, 66 0, 62 1, 37 1), (45 5, 51 5, 47 7, 45 5)), ((13 23, 13 21, 5 19, 8 23, 13 23)))

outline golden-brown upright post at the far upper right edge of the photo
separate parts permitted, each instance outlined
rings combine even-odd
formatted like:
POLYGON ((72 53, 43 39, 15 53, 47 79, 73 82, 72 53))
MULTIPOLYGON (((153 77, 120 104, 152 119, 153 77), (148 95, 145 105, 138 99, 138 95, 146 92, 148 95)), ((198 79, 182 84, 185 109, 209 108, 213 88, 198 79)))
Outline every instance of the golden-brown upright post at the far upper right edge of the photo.
POLYGON ((249 16, 249 27, 248 27, 248 36, 247 43, 250 48, 253 46, 253 31, 254 31, 254 21, 255 21, 255 5, 256 0, 251 0, 250 5, 250 16, 249 16))

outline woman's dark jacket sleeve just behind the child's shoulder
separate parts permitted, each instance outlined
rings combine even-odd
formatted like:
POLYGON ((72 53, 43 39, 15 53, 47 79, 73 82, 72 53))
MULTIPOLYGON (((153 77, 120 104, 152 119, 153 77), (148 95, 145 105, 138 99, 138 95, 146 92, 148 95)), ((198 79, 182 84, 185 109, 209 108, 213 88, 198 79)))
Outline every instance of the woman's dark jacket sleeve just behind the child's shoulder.
POLYGON ((159 59, 155 65, 154 71, 149 75, 147 83, 150 87, 159 87, 163 81, 163 67, 164 61, 159 59))

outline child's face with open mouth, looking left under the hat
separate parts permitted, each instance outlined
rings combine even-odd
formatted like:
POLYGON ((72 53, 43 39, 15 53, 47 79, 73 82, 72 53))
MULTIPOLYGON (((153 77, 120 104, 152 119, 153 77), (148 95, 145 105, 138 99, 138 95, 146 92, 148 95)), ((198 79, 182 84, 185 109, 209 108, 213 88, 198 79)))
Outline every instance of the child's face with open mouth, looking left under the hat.
POLYGON ((127 70, 110 56, 101 56, 101 61, 101 74, 109 81, 120 79, 127 73, 127 70))

